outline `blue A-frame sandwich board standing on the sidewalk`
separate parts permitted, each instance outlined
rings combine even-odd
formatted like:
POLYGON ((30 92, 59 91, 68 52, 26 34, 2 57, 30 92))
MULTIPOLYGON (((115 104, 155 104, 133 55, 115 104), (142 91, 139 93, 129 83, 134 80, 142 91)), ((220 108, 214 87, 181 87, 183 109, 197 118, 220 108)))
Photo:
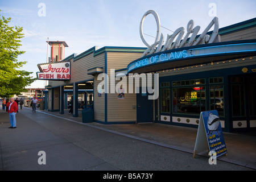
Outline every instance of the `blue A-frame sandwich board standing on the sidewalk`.
POLYGON ((212 158, 227 154, 217 110, 200 113, 193 158, 195 158, 196 152, 202 152, 207 149, 210 151, 212 158))

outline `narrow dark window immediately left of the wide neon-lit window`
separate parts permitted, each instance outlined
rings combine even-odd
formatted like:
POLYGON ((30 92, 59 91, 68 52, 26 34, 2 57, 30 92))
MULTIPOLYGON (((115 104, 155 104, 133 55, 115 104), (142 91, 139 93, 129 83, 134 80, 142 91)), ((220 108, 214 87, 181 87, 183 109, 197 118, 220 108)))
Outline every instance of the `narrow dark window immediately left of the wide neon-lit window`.
POLYGON ((162 82, 161 85, 161 112, 170 113, 170 84, 162 82))

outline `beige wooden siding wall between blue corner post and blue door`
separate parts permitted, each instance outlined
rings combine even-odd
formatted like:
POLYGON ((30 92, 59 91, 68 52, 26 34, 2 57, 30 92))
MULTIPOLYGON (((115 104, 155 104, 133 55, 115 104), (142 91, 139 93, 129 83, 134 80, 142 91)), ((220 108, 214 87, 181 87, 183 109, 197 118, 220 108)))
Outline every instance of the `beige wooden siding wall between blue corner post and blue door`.
MULTIPOLYGON (((136 59, 141 57, 142 53, 123 53, 108 52, 108 75, 110 79, 110 69, 123 69, 136 59)), ((128 80, 128 79, 127 79, 128 80)), ((115 81, 117 84, 119 81, 115 81)), ((128 86, 128 85, 127 85, 128 86)), ((110 84, 109 84, 110 92, 110 84)), ((127 91, 128 92, 128 91, 127 91)), ((94 97, 95 98, 95 97, 94 97)), ((118 99, 117 93, 108 94, 108 122, 136 121, 137 109, 133 109, 133 105, 137 105, 135 93, 125 93, 125 99, 118 99)))

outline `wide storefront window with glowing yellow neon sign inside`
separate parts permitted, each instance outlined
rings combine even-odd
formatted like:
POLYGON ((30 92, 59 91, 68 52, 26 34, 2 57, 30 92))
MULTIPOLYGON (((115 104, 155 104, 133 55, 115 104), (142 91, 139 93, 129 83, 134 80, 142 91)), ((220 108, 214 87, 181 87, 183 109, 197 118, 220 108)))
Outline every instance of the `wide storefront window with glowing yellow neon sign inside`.
POLYGON ((205 111, 205 79, 172 82, 173 113, 200 114, 205 111))

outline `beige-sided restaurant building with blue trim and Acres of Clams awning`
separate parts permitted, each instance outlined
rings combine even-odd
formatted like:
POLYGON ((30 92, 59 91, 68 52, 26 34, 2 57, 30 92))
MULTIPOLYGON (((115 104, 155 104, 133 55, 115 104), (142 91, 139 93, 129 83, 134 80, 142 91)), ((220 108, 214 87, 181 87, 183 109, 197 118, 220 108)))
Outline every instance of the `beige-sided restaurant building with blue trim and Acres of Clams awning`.
MULTIPOLYGON (((148 11, 143 18, 150 13, 154 15, 148 11)), ((92 47, 55 62, 65 64, 69 76, 48 79, 51 75, 46 78, 40 73, 53 72, 53 65, 42 64, 47 69, 39 68, 38 78, 49 80, 46 109, 67 114, 73 96, 73 117, 79 116, 82 105, 90 105, 98 123, 155 122, 185 127, 197 127, 201 111, 217 110, 222 130, 255 131, 256 18, 223 28, 213 19, 211 26, 214 30, 205 34, 180 36, 185 40, 179 40, 181 28, 175 31, 175 42, 168 45, 167 41, 163 45, 161 36, 155 45, 147 46, 150 48, 92 47), (118 73, 125 76, 119 78, 118 73), (131 84, 130 80, 143 73, 153 76, 158 93, 156 88, 154 93, 143 92, 143 81, 131 84), (125 82, 133 92, 125 88, 125 82), (152 94, 158 97, 148 99, 152 94)))

